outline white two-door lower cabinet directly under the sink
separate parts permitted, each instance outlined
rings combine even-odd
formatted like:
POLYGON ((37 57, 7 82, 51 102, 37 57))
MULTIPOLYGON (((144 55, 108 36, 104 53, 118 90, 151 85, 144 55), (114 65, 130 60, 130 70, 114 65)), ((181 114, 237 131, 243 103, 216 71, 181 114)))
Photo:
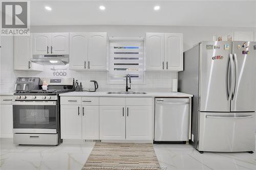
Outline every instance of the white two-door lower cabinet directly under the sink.
POLYGON ((152 98, 100 98, 101 140, 153 140, 152 98))

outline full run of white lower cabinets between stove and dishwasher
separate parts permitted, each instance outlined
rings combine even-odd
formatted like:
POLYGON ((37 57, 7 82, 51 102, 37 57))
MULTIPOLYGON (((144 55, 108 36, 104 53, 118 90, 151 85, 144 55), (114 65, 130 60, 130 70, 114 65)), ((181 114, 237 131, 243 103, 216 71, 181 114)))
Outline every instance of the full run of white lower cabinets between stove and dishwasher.
POLYGON ((153 99, 61 96, 61 139, 153 140, 153 99))

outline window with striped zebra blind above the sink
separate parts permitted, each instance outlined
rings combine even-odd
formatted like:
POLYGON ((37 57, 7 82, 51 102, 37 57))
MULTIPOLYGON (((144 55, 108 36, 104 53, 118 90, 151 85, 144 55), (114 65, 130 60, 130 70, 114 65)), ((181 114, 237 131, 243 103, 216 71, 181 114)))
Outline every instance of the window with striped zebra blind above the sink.
POLYGON ((130 74, 133 84, 144 83, 144 38, 110 39, 109 83, 122 84, 130 74))

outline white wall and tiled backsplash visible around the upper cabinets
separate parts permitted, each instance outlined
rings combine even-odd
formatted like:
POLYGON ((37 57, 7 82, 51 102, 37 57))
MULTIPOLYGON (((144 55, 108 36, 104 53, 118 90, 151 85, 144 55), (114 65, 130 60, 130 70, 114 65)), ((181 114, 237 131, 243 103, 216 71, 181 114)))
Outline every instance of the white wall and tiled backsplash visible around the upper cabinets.
MULTIPOLYGON (((232 27, 170 27, 170 26, 33 26, 32 32, 108 32, 110 37, 144 37, 146 32, 169 32, 169 33, 183 33, 184 51, 192 47, 202 40, 212 40, 214 34, 226 35, 233 31, 254 31, 254 40, 256 40, 255 28, 232 28, 232 27)), ((1 92, 9 92, 13 90, 14 83, 17 77, 31 76, 31 77, 53 77, 53 71, 50 69, 53 66, 45 66, 44 72, 38 71, 16 71, 13 70, 13 38, 1 37, 2 51, 1 51, 1 77, 0 90, 1 92)), ((55 68, 68 68, 66 66, 55 66, 55 68)), ((106 72, 86 72, 66 70, 67 76, 72 77, 83 86, 88 88, 90 80, 96 80, 99 83, 99 90, 106 88, 122 89, 124 85, 109 85, 106 84, 106 72)), ((171 90, 172 79, 177 78, 177 73, 161 73, 147 72, 146 84, 132 85, 133 89, 144 88, 166 88, 171 90)))

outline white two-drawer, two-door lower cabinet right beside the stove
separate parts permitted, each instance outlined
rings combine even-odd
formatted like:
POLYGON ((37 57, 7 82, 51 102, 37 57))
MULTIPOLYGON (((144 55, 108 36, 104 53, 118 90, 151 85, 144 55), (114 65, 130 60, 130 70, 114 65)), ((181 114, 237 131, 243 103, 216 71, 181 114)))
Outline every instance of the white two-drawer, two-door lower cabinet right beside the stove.
POLYGON ((60 137, 61 139, 99 139, 99 98, 90 98, 91 103, 81 105, 81 97, 60 99, 60 137))

